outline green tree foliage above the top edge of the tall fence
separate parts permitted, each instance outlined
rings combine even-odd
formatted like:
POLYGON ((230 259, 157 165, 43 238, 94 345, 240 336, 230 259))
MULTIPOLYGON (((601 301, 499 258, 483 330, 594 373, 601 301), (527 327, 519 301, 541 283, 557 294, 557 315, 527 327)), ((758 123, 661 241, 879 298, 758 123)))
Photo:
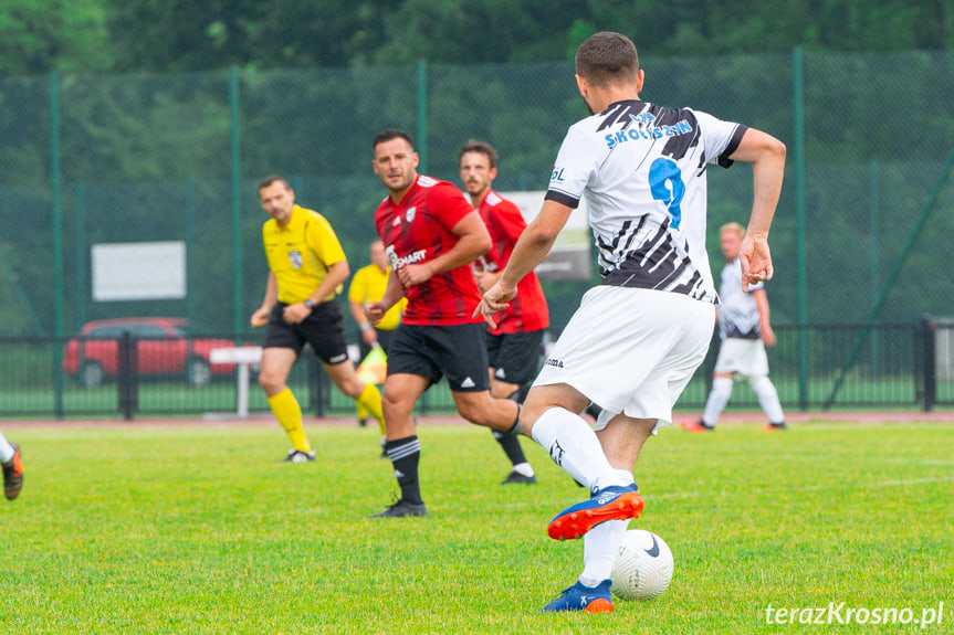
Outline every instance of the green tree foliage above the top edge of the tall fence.
POLYGON ((943 50, 950 0, 4 0, 0 76, 564 61, 598 30, 642 55, 943 50))

